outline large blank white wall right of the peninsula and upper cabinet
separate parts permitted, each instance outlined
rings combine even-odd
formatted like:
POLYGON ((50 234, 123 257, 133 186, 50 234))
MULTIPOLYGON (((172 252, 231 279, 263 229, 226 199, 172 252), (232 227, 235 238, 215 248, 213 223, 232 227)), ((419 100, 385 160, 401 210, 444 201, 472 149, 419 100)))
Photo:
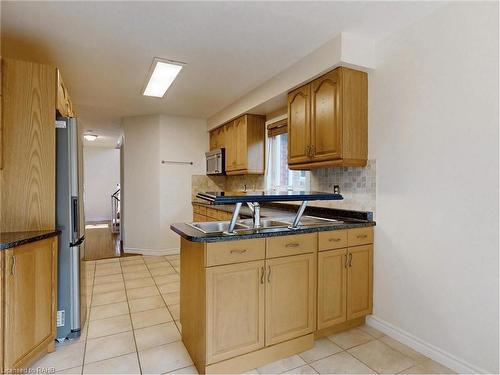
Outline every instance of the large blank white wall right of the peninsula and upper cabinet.
POLYGON ((498 373, 498 3, 449 5, 376 51, 371 323, 498 373))

